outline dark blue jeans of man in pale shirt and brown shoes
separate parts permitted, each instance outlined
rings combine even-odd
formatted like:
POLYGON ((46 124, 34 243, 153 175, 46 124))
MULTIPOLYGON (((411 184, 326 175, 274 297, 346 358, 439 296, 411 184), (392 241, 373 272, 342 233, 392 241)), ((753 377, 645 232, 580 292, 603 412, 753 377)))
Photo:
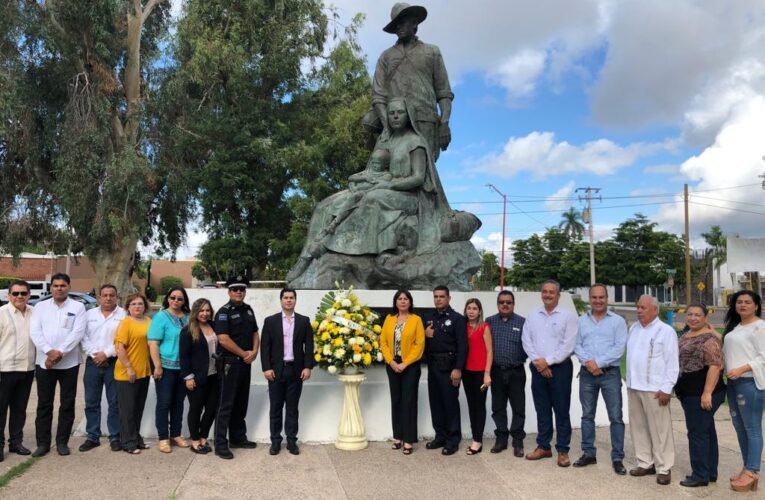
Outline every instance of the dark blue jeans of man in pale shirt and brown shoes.
POLYGON ((543 450, 550 449, 553 433, 553 413, 555 413, 555 428, 557 439, 555 449, 568 453, 571 444, 571 379, 574 375, 574 365, 566 360, 557 365, 551 365, 552 378, 544 378, 532 364, 531 366, 531 395, 534 397, 534 407, 537 410, 537 446, 543 450))

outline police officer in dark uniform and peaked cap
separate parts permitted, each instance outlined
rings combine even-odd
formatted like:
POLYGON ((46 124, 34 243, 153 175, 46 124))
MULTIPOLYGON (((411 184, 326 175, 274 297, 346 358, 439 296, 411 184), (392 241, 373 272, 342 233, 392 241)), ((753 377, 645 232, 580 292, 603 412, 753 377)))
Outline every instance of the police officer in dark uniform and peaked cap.
POLYGON ((237 276, 226 282, 229 301, 215 315, 218 334, 220 405, 215 418, 215 454, 234 458, 230 448, 255 448, 247 439, 247 404, 250 400, 250 368, 258 356, 260 338, 255 312, 244 303, 247 281, 237 276))

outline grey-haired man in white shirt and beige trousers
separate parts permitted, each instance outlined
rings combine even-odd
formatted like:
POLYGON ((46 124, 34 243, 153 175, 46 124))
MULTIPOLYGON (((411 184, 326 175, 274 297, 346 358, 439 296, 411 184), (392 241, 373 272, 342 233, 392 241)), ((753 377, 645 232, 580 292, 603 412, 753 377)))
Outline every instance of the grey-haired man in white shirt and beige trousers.
POLYGON ((630 475, 657 474, 656 482, 668 485, 675 463, 669 400, 680 372, 677 333, 659 320, 655 297, 640 297, 637 316, 627 339, 630 435, 638 460, 630 475))

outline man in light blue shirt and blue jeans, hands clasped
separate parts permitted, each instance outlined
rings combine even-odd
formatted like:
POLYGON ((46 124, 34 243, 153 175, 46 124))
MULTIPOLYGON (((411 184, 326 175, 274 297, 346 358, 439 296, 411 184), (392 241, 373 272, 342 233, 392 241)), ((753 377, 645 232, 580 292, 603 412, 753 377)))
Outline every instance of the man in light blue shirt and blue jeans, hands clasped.
POLYGON ((582 456, 574 467, 597 463, 595 449, 595 410, 598 391, 603 393, 611 422, 611 462, 614 472, 624 468, 624 421, 622 420, 621 358, 627 345, 627 323, 608 310, 606 286, 590 287, 591 311, 579 318, 574 353, 582 364, 579 372, 579 400, 582 403, 582 456))

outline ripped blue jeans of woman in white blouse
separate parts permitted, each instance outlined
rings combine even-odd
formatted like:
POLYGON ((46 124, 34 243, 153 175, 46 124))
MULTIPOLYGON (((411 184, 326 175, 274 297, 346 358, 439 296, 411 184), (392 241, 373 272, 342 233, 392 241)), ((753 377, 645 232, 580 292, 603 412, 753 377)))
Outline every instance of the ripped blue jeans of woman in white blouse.
POLYGON ((752 377, 728 380, 728 405, 744 467, 760 471, 762 460, 762 413, 765 391, 757 389, 752 377))

